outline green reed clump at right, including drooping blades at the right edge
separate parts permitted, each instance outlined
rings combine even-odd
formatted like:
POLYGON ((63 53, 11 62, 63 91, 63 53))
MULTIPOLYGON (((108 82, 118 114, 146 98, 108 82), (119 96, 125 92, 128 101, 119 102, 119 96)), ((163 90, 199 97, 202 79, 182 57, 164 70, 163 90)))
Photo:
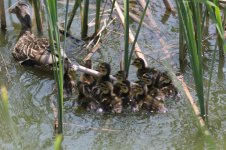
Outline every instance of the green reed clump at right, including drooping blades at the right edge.
MULTIPOLYGON (((192 66, 193 77, 195 81, 196 93, 199 100, 199 106, 201 116, 205 118, 205 99, 204 99, 204 87, 203 87, 203 50, 202 50, 202 37, 203 37, 203 20, 201 10, 206 8, 206 11, 210 14, 210 18, 213 20, 216 30, 218 31, 221 40, 219 41, 223 45, 223 27, 220 16, 220 9, 217 6, 218 0, 211 1, 181 1, 176 0, 180 27, 183 31, 186 45, 189 52, 189 58, 192 66)), ((182 37, 182 35, 181 35, 182 37)))

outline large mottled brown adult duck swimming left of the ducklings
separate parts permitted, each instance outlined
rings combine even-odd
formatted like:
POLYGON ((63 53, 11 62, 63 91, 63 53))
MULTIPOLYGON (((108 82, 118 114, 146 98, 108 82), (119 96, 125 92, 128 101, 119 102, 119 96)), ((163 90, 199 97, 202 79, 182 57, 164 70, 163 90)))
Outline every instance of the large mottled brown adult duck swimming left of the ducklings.
MULTIPOLYGON (((52 66, 54 60, 59 60, 58 56, 50 51, 49 39, 38 38, 31 32, 31 16, 27 3, 18 2, 15 7, 9 9, 9 12, 16 14, 22 25, 21 36, 12 48, 13 57, 21 65, 45 67, 52 66)), ((67 58, 62 49, 61 56, 67 58)))

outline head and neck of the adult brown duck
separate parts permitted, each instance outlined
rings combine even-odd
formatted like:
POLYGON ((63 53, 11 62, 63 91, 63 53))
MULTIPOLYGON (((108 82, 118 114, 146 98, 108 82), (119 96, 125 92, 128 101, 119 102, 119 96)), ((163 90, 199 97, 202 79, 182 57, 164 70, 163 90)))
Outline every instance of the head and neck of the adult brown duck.
POLYGON ((31 15, 29 13, 29 5, 25 2, 18 2, 15 6, 11 6, 8 10, 12 14, 16 14, 22 25, 22 31, 31 31, 31 15))

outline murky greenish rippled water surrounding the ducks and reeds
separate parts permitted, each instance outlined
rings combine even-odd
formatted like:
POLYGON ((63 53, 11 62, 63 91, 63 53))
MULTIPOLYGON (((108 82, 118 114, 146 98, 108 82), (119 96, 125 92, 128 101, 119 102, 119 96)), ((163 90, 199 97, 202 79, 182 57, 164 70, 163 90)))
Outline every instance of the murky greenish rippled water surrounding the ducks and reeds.
MULTIPOLYGON (((14 1, 12 1, 14 3, 14 1)), ((10 5, 5 0, 6 8, 10 5)), ((60 5, 61 6, 61 5, 60 5)), ((61 6, 62 7, 62 6, 61 6)), ((163 22, 165 7, 162 2, 152 2, 151 10, 155 21, 166 37, 167 48, 170 50, 172 62, 166 59, 178 72, 178 19, 170 15, 163 22)), ((62 15, 63 9, 60 9, 62 15)), ((54 80, 51 73, 41 72, 18 65, 13 59, 10 49, 15 44, 20 32, 20 25, 14 16, 7 14, 8 30, 1 32, 0 51, 4 58, 0 58, 0 85, 5 85, 9 93, 10 115, 15 123, 16 137, 9 132, 9 125, 0 121, 0 149, 53 149, 54 144, 54 116, 51 103, 56 101, 56 93, 53 92, 54 80), (7 69, 6 69, 7 68, 7 69), (14 142, 13 142, 14 141, 14 142)), ((74 22, 73 29, 79 29, 79 24, 74 22)), ((120 23, 116 22, 111 28, 119 31, 120 23)), ((133 23, 132 27, 137 27, 133 23)), ((214 27, 209 33, 214 32, 214 27)), ((79 37, 80 31, 72 31, 79 37)), ((111 62, 113 73, 119 68, 119 56, 122 54, 123 37, 119 34, 111 34, 101 49, 93 56, 95 64, 99 60, 111 62)), ((208 83, 208 70, 214 39, 207 42, 205 63, 205 84, 208 83)), ((165 69, 159 62, 166 57, 160 50, 161 45, 153 32, 143 28, 139 37, 139 44, 144 50, 151 66, 165 69), (157 61, 156 61, 157 60, 157 61)), ((79 52, 79 48, 68 40, 67 52, 74 60, 81 59, 85 52, 79 52)), ((215 139, 217 149, 226 149, 226 67, 219 61, 214 66, 214 76, 210 98, 209 129, 215 139), (219 67, 219 64, 221 67, 219 67)), ((225 60, 225 59, 224 59, 225 60)), ((172 69, 169 68, 169 69, 172 69)), ((190 67, 186 67, 184 78, 188 81, 191 91, 194 85, 191 82, 190 67)), ((135 80, 135 69, 131 68, 130 78, 135 80)), ((192 92, 194 94, 194 92, 192 92)), ((183 97, 180 101, 168 101, 167 114, 109 114, 100 115, 72 109, 73 98, 65 102, 64 111, 64 142, 65 150, 72 149, 210 149, 211 144, 203 136, 192 109, 183 97)), ((2 120, 2 119, 1 119, 2 120)))

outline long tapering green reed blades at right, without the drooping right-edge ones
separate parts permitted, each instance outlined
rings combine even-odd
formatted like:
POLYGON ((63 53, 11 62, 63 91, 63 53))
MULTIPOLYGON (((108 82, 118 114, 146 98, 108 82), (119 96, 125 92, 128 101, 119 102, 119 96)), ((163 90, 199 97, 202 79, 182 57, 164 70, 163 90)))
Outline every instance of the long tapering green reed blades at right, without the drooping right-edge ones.
POLYGON ((205 117, 205 102, 203 94, 203 68, 202 68, 202 56, 201 56, 201 45, 202 45, 202 31, 201 31, 201 20, 199 5, 193 1, 180 1, 176 0, 178 13, 180 17, 180 23, 183 26, 183 33, 188 47, 189 58, 192 64, 192 73, 195 80, 196 93, 199 100, 201 116, 205 117), (192 10, 194 12, 192 12, 192 10), (195 21, 193 19, 195 18, 195 21), (199 20, 198 20, 199 19, 199 20), (194 25, 197 26, 195 32, 194 25), (196 34, 194 34, 196 33, 196 34), (197 35, 200 34, 200 35, 197 35), (196 41, 196 36, 198 40, 196 41))

